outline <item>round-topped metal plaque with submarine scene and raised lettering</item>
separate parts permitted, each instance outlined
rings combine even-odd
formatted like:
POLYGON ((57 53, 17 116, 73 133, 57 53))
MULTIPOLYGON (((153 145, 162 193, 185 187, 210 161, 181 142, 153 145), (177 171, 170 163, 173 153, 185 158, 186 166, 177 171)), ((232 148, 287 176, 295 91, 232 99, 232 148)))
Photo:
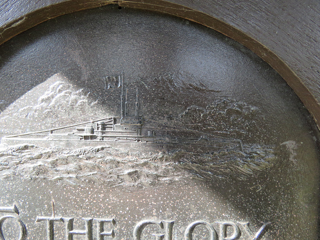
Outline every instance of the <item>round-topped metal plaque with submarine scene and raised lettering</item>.
POLYGON ((0 46, 0 239, 316 239, 318 132, 239 43, 108 5, 0 46))

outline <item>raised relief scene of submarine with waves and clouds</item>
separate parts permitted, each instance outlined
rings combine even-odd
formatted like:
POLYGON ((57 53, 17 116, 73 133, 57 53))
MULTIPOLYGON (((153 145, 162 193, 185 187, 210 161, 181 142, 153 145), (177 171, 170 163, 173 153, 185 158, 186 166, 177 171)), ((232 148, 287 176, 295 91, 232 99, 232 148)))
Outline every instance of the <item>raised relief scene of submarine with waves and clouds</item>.
POLYGON ((247 143, 248 138, 257 138, 249 130, 259 128, 257 122, 263 121, 263 116, 258 108, 244 102, 216 97, 206 108, 191 105, 175 115, 146 117, 146 99, 143 91, 139 93, 144 89, 143 79, 138 87, 127 89, 123 74, 104 77, 101 87, 115 99, 113 105, 104 108, 89 97, 92 93, 74 87, 59 74, 45 84, 47 90, 38 93, 34 103, 23 105, 25 100, 20 99, 18 109, 8 107, 0 115, 2 125, 6 125, 0 149, 3 176, 20 174, 23 165, 23 177, 63 180, 67 175, 76 182, 92 174, 103 177, 107 173, 113 180, 111 185, 143 185, 162 178, 185 177, 185 171, 202 179, 243 180, 274 163, 273 145, 247 143), (13 127, 21 116, 24 132, 13 127), (72 122, 72 118, 81 121, 72 122), (28 127, 32 124, 39 130, 32 131, 34 128, 28 127), (237 138, 241 134, 243 141, 237 138), (12 159, 16 158, 24 164, 13 166, 12 159), (37 165, 42 159, 47 163, 37 165), (81 159, 92 161, 87 164, 81 159), (134 166, 130 167, 128 161, 134 166), (25 171, 28 164, 32 168, 25 171), (61 164, 64 167, 59 172, 52 170, 61 164), (154 164, 158 173, 150 178, 147 172, 153 171, 154 164), (101 166, 112 170, 102 172, 101 166), (168 167, 175 173, 167 172, 168 167))

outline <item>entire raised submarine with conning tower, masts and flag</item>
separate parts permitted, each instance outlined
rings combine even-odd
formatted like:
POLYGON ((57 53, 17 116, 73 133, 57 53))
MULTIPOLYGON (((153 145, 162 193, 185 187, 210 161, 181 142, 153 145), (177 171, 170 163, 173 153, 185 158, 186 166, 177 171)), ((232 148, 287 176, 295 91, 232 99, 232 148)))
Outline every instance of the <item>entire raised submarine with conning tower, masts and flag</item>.
POLYGON ((200 131, 185 129, 160 130, 144 126, 144 117, 140 114, 138 88, 136 88, 134 109, 130 109, 128 88, 125 88, 123 73, 118 76, 104 77, 105 89, 120 88, 120 116, 106 116, 86 122, 59 126, 34 132, 8 135, 2 137, 2 143, 17 144, 30 142, 47 146, 54 142, 62 146, 85 146, 111 144, 114 147, 130 148, 158 147, 164 151, 182 148, 189 152, 213 152, 221 149, 232 149, 243 152, 241 140, 215 136, 200 131), (58 130, 71 129, 66 133, 58 130), (165 132, 165 133, 164 133, 165 132), (46 135, 44 133, 47 133, 46 135))

